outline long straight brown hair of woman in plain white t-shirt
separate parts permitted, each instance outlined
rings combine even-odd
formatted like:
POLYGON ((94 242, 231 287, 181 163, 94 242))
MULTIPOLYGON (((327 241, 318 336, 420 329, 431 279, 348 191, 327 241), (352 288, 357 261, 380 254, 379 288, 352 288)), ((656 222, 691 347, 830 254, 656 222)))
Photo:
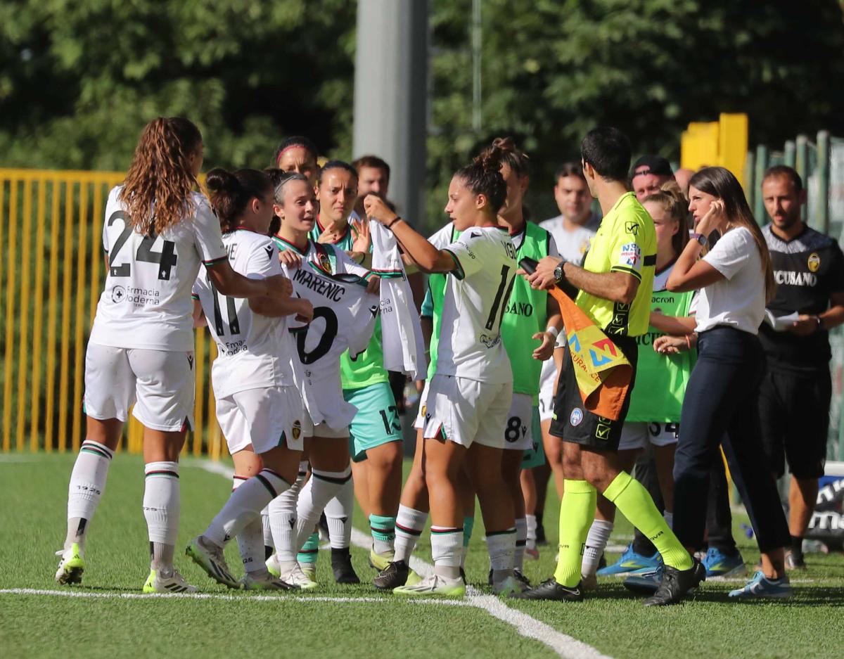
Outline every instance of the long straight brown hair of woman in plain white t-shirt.
POLYGON ((762 235, 759 224, 756 224, 738 179, 733 176, 733 172, 723 167, 704 167, 691 177, 689 186, 721 199, 729 224, 743 226, 753 235, 762 258, 762 271, 765 273, 765 300, 770 302, 776 292, 771 252, 768 251, 765 236, 762 235))

